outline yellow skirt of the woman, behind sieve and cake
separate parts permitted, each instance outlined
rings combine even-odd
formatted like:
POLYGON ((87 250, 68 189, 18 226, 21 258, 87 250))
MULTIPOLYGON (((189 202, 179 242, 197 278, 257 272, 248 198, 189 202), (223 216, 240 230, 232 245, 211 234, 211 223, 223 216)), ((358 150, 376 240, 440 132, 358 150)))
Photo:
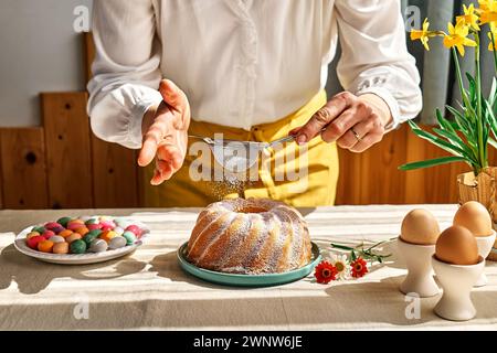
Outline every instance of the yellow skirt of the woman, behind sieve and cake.
MULTIPOLYGON (((215 133, 223 133, 223 138, 232 140, 273 141, 306 124, 326 101, 326 93, 322 90, 294 114, 276 122, 254 126, 250 131, 192 120, 189 133, 211 138, 215 133)), ((199 141, 190 139, 183 167, 162 185, 150 185, 154 165, 145 169, 144 202, 147 207, 204 207, 239 195, 245 199, 279 200, 295 207, 327 206, 335 203, 339 172, 338 151, 335 143, 326 143, 320 137, 305 147, 292 142, 266 150, 261 158, 262 162, 255 163, 247 172, 251 181, 242 185, 233 182, 233 175, 228 172, 229 182, 222 182, 224 178, 213 176, 214 172, 205 173, 205 170, 202 175, 209 178, 199 178, 199 165, 211 165, 212 170, 212 165, 216 165, 216 170, 222 168, 214 161, 210 150, 199 152, 199 145, 193 143, 199 141), (192 176, 192 172, 195 176, 192 176)))

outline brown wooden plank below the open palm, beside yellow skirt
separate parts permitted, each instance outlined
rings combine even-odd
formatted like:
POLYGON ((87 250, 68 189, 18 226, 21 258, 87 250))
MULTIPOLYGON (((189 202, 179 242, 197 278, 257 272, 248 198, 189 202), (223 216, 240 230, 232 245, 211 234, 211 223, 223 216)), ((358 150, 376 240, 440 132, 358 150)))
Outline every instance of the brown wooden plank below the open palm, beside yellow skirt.
POLYGON ((138 205, 137 156, 134 150, 92 137, 95 207, 138 205))

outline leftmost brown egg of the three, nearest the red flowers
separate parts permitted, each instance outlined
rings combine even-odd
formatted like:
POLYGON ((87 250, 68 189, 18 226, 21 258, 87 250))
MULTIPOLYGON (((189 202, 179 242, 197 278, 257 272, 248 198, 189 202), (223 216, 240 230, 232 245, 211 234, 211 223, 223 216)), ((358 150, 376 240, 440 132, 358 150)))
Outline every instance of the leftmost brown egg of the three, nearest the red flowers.
POLYGON ((434 245, 438 235, 438 222, 426 210, 413 210, 402 221, 401 239, 406 243, 434 245))

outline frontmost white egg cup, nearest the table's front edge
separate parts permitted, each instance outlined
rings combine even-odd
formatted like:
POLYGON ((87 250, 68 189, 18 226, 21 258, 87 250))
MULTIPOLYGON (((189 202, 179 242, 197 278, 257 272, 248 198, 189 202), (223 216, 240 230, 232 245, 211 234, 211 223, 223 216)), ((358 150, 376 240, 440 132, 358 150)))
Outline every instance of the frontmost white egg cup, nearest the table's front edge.
POLYGON ((451 265, 432 257, 433 269, 444 293, 435 306, 435 313, 446 320, 467 321, 476 315, 470 292, 485 268, 480 258, 476 265, 451 265))

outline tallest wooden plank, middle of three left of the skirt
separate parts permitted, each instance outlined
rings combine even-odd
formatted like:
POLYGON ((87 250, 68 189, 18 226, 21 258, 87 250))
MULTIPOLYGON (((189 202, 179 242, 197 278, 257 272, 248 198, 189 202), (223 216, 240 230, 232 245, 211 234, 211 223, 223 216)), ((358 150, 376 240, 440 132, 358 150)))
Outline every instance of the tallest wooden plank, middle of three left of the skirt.
POLYGON ((54 208, 87 208, 94 204, 86 100, 86 93, 41 95, 49 200, 54 208))

